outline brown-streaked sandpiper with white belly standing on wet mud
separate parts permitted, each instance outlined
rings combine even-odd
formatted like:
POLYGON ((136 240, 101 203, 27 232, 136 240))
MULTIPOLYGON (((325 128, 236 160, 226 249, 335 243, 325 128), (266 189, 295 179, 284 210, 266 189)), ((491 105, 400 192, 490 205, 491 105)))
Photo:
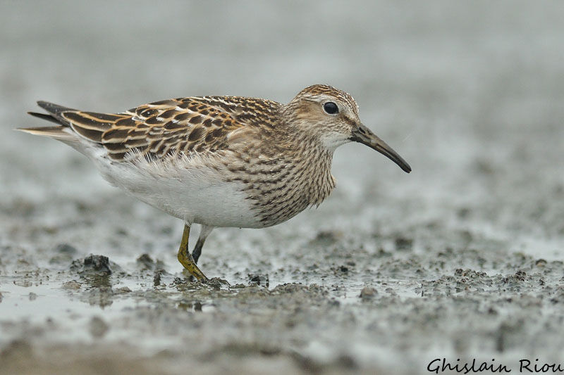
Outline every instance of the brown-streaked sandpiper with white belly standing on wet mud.
POLYGON ((411 167, 362 124, 350 94, 326 84, 289 103, 243 96, 189 96, 121 113, 47 101, 28 112, 53 126, 18 128, 86 155, 110 184, 184 222, 178 260, 198 281, 202 247, 216 227, 271 227, 319 206, 336 186, 333 151, 358 142, 403 171, 411 167), (190 253, 193 224, 200 235, 190 253))

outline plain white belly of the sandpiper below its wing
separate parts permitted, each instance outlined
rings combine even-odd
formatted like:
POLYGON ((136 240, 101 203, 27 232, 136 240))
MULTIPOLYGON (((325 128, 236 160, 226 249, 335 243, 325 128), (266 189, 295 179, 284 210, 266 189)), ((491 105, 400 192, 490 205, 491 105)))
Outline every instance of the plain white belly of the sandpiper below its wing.
POLYGON ((211 227, 263 227, 240 182, 223 182, 223 175, 204 167, 201 158, 184 158, 175 165, 137 160, 111 163, 91 158, 111 184, 131 196, 185 222, 211 227))

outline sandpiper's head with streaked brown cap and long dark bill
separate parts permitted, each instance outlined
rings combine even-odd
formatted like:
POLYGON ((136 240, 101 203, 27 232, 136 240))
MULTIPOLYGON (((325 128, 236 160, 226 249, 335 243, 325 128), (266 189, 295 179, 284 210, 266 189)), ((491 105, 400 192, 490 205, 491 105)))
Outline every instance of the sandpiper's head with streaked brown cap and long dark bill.
POLYGON ((359 142, 390 158, 405 172, 411 172, 410 165, 393 148, 362 125, 357 103, 345 91, 314 84, 300 91, 285 110, 293 125, 319 139, 328 151, 350 141, 359 142))

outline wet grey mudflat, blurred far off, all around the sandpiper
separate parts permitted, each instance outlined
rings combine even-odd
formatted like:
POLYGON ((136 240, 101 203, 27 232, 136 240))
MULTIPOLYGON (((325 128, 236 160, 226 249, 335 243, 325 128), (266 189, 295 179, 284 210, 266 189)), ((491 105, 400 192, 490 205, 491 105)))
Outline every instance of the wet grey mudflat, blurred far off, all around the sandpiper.
POLYGON ((0 361, 410 373, 436 357, 513 371, 561 360, 563 19, 558 1, 1 1, 0 361), (346 145, 319 209, 214 231, 202 267, 240 292, 173 287, 178 220, 71 148, 12 130, 46 125, 25 114, 38 99, 100 112, 205 94, 285 103, 315 83, 352 94, 413 172, 346 145), (68 266, 89 253, 116 262, 102 286, 68 266), (376 295, 359 298, 364 286, 376 295))

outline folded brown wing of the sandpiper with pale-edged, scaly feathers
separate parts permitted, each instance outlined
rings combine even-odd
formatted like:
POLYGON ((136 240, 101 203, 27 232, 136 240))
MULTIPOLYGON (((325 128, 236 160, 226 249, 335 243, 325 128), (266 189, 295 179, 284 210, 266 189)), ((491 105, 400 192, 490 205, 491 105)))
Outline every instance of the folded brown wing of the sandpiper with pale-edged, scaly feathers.
POLYGON ((66 110, 59 115, 81 136, 102 144, 114 160, 135 151, 162 158, 227 148, 228 134, 264 124, 280 105, 236 96, 157 101, 124 113, 66 110))

